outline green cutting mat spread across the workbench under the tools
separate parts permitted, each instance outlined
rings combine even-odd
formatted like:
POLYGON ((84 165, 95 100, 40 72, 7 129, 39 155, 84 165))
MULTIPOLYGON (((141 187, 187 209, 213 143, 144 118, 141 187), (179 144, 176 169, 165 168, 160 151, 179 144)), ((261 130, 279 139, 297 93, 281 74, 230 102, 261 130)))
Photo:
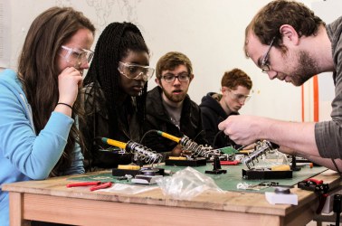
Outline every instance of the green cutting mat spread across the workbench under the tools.
MULTIPOLYGON (((179 170, 185 168, 185 166, 170 166, 170 165, 160 165, 166 170, 170 170, 172 173, 176 173, 179 170)), ((315 166, 313 168, 301 168, 300 171, 294 171, 293 176, 290 179, 271 179, 271 180, 246 180, 242 178, 242 169, 247 169, 245 165, 222 165, 222 169, 227 170, 226 174, 205 174, 214 179, 214 182, 224 191, 231 192, 252 192, 252 193, 264 193, 273 191, 274 188, 264 188, 259 191, 255 190, 242 190, 237 189, 237 184, 247 183, 247 184, 260 184, 261 182, 276 182, 280 185, 295 185, 300 181, 313 177, 314 175, 320 174, 326 171, 327 168, 315 166)), ((195 170, 204 174, 205 170, 213 170, 213 165, 207 164, 204 166, 194 167, 195 170)), ((72 180, 76 181, 101 181, 101 182, 113 182, 119 184, 132 184, 127 180, 118 180, 117 176, 112 176, 111 172, 102 174, 93 174, 87 176, 73 177, 72 180)))

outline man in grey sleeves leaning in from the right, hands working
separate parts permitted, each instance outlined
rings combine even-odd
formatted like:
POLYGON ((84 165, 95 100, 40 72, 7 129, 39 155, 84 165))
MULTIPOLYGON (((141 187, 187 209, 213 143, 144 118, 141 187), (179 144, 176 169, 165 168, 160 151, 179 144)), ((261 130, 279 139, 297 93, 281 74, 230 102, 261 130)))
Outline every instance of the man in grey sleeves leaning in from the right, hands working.
POLYGON ((331 71, 336 97, 331 120, 286 122, 254 116, 232 116, 219 128, 236 143, 268 139, 280 151, 303 156, 332 170, 342 170, 342 16, 325 24, 306 5, 277 0, 265 5, 245 32, 246 56, 266 72, 295 86, 331 71))

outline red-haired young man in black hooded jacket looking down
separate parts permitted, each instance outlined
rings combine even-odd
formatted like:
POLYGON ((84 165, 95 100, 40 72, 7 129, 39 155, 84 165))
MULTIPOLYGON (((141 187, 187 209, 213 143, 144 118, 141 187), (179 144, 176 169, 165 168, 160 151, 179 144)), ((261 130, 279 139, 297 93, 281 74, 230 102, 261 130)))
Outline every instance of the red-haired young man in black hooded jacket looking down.
POLYGON ((209 92, 200 104, 203 127, 209 145, 219 148, 233 146, 239 148, 233 140, 220 132, 218 125, 224 119, 239 115, 239 110, 251 98, 251 78, 240 69, 226 71, 221 80, 221 93, 209 92))

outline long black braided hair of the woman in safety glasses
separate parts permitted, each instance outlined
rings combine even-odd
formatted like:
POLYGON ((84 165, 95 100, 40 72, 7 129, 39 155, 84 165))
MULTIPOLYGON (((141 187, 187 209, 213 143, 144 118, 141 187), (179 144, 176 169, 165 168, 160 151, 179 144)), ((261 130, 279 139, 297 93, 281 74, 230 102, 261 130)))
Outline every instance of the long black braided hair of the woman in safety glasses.
MULTIPOLYGON (((149 54, 147 44, 138 27, 131 23, 111 23, 100 34, 99 40, 95 47, 94 57, 92 59, 90 69, 87 76, 83 80, 86 86, 93 83, 92 89, 102 89, 107 99, 107 107, 109 108, 109 121, 111 123, 117 121, 115 116, 119 99, 127 96, 119 87, 119 61, 128 56, 128 52, 147 52, 149 54), (98 85, 96 85, 98 84, 98 85), (100 85, 100 87, 99 87, 100 85)), ((93 90, 96 92, 96 90, 93 90)), ((147 82, 144 89, 138 97, 132 97, 136 102, 136 110, 140 125, 146 117, 147 82)), ((118 125, 113 125, 111 129, 117 129, 118 125)))

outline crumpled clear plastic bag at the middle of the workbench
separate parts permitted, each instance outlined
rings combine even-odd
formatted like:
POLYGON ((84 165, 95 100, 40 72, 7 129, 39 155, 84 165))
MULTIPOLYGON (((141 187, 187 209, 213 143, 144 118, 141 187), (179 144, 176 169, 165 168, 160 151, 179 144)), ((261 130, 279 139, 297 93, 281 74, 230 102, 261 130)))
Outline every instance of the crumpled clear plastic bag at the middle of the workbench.
POLYGON ((178 200, 191 200, 204 191, 223 193, 214 180, 192 167, 186 167, 172 176, 157 179, 157 184, 165 195, 178 200))

